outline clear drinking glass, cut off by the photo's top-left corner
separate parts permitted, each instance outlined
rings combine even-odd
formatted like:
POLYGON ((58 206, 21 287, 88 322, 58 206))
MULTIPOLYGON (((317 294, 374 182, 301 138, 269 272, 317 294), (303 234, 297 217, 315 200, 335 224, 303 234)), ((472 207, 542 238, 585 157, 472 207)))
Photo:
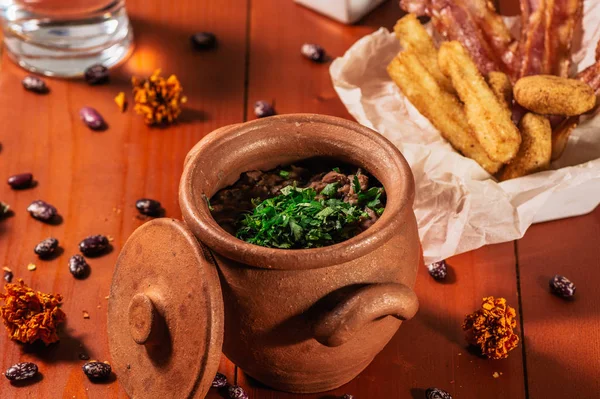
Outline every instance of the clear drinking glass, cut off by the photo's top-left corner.
POLYGON ((8 54, 43 75, 111 67, 133 46, 124 0, 0 0, 0 17, 8 54))

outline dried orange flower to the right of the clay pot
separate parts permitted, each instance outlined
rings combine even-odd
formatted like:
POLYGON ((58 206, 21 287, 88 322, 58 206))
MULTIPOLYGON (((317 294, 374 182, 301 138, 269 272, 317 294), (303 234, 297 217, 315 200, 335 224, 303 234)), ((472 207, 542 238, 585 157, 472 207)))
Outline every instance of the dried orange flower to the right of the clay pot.
POLYGON ((519 336, 514 333, 516 316, 506 299, 489 296, 483 298, 481 309, 466 316, 462 327, 467 332, 467 341, 479 347, 484 356, 504 359, 519 344, 519 336))

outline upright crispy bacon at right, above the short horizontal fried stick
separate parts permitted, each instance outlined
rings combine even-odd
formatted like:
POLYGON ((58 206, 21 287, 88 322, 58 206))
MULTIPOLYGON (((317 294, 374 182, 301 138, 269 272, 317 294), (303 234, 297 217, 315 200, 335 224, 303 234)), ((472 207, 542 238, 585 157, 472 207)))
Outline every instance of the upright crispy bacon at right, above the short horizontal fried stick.
POLYGON ((573 33, 582 9, 583 0, 521 0, 519 77, 568 76, 573 33))

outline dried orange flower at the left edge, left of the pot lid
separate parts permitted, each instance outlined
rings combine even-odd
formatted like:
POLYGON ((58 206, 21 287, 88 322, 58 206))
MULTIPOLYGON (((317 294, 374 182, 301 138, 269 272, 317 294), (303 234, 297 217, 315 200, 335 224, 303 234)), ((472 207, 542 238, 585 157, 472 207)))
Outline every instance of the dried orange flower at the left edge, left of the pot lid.
POLYGON ((66 319, 59 308, 61 295, 34 291, 21 279, 5 284, 4 289, 6 294, 0 294, 5 302, 0 316, 11 339, 29 344, 39 339, 46 345, 58 341, 56 328, 66 319))

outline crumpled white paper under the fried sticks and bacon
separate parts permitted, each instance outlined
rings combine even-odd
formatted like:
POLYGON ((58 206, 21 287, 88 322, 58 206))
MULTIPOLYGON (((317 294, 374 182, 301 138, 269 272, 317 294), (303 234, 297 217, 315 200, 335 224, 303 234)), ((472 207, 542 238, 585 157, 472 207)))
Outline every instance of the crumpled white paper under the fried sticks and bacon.
MULTIPOLYGON (((507 22, 518 32, 518 18, 507 22)), ((594 61, 600 0, 584 1, 583 27, 581 44, 573 49, 577 71, 594 61)), ((410 164, 426 264, 518 239, 554 192, 600 179, 600 115, 596 115, 582 118, 552 170, 496 182, 475 161, 455 152, 389 78, 386 66, 400 50, 394 34, 381 28, 337 58, 330 74, 356 120, 390 139, 410 164)), ((600 191, 594 194, 600 202, 600 191)))

